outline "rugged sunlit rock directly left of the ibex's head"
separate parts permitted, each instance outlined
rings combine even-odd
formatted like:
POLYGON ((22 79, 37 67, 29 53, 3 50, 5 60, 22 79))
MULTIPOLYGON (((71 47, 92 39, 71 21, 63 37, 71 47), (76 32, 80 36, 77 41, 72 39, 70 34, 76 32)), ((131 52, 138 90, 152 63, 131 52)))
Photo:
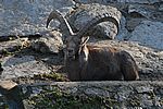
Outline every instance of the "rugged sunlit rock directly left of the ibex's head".
POLYGON ((59 53, 63 47, 62 35, 60 32, 42 32, 39 33, 42 37, 32 43, 32 47, 36 51, 42 53, 59 53))

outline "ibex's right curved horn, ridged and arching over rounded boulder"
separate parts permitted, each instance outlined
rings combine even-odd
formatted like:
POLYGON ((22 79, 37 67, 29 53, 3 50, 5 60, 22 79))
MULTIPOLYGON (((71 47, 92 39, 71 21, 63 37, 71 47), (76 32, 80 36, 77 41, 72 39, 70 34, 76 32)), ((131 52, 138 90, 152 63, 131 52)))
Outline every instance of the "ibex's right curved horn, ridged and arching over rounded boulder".
POLYGON ((88 23, 82 29, 79 29, 79 32, 76 34, 77 37, 85 36, 88 33, 88 31, 90 28, 92 28, 95 25, 97 25, 101 22, 106 22, 106 21, 114 23, 116 25, 117 32, 118 32, 120 22, 116 19, 114 19, 113 16, 111 16, 109 13, 104 13, 103 15, 96 16, 90 22, 88 21, 88 23))

